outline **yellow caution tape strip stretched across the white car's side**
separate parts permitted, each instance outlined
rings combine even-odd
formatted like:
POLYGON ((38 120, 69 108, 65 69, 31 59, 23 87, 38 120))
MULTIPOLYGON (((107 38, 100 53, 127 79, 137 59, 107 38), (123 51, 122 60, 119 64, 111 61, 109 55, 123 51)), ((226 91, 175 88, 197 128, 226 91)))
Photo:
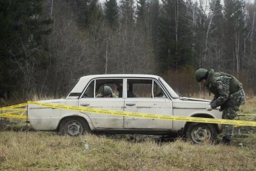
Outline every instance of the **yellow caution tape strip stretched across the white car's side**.
POLYGON ((59 108, 63 110, 85 111, 90 113, 111 114, 111 115, 126 116, 126 117, 140 117, 140 118, 161 119, 161 120, 179 120, 179 121, 185 121, 185 122, 200 122, 200 123, 219 123, 219 124, 240 125, 240 126, 256 126, 256 122, 245 121, 245 120, 211 119, 211 118, 204 118, 204 117, 187 117, 187 116, 166 116, 161 114, 104 110, 104 109, 96 109, 96 108, 89 108, 89 107, 76 107, 76 106, 69 106, 69 105, 48 104, 43 102, 31 102, 31 101, 29 101, 28 104, 40 105, 43 107, 50 107, 50 108, 59 108))

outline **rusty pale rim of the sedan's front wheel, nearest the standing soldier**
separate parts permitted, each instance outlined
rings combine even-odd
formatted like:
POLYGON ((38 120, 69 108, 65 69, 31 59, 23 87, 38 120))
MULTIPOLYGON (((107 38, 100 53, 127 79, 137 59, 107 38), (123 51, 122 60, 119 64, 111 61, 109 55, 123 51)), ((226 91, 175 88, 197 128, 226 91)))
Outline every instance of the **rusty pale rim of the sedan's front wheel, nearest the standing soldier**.
POLYGON ((197 127, 192 130, 192 140, 195 143, 203 143, 211 139, 211 131, 205 127, 197 127))

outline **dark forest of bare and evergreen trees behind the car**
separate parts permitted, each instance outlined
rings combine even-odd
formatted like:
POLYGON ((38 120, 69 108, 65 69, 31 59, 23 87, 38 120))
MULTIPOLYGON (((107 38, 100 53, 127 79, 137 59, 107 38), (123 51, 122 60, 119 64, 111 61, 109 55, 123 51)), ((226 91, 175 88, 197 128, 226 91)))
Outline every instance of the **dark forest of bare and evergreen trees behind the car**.
POLYGON ((160 75, 199 92, 199 67, 255 95, 256 3, 244 0, 0 1, 0 99, 60 98, 84 75, 160 75))

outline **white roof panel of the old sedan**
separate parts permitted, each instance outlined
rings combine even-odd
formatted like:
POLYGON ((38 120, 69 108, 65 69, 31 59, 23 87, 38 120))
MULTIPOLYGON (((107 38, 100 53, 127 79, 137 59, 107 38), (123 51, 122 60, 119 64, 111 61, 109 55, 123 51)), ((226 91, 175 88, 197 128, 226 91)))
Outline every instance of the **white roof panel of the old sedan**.
POLYGON ((108 78, 108 77, 138 77, 138 78, 155 78, 158 79, 160 76, 148 75, 148 74, 102 74, 102 75, 87 75, 82 76, 80 79, 92 79, 92 78, 108 78))

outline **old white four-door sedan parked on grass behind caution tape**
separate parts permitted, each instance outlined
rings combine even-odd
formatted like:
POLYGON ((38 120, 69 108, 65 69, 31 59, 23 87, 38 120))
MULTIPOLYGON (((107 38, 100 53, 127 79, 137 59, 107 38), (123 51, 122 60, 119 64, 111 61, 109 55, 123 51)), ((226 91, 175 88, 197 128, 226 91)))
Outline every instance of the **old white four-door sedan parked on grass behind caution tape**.
MULTIPOLYGON (((52 104, 104 108, 117 111, 221 119, 219 110, 207 111, 210 101, 183 98, 160 76, 113 74, 81 77, 65 99, 40 101, 52 104), (111 96, 106 95, 111 92, 111 96)), ((129 134, 184 135, 194 143, 214 141, 221 125, 157 120, 28 105, 31 126, 36 130, 58 130, 61 134, 118 132, 129 134)))

